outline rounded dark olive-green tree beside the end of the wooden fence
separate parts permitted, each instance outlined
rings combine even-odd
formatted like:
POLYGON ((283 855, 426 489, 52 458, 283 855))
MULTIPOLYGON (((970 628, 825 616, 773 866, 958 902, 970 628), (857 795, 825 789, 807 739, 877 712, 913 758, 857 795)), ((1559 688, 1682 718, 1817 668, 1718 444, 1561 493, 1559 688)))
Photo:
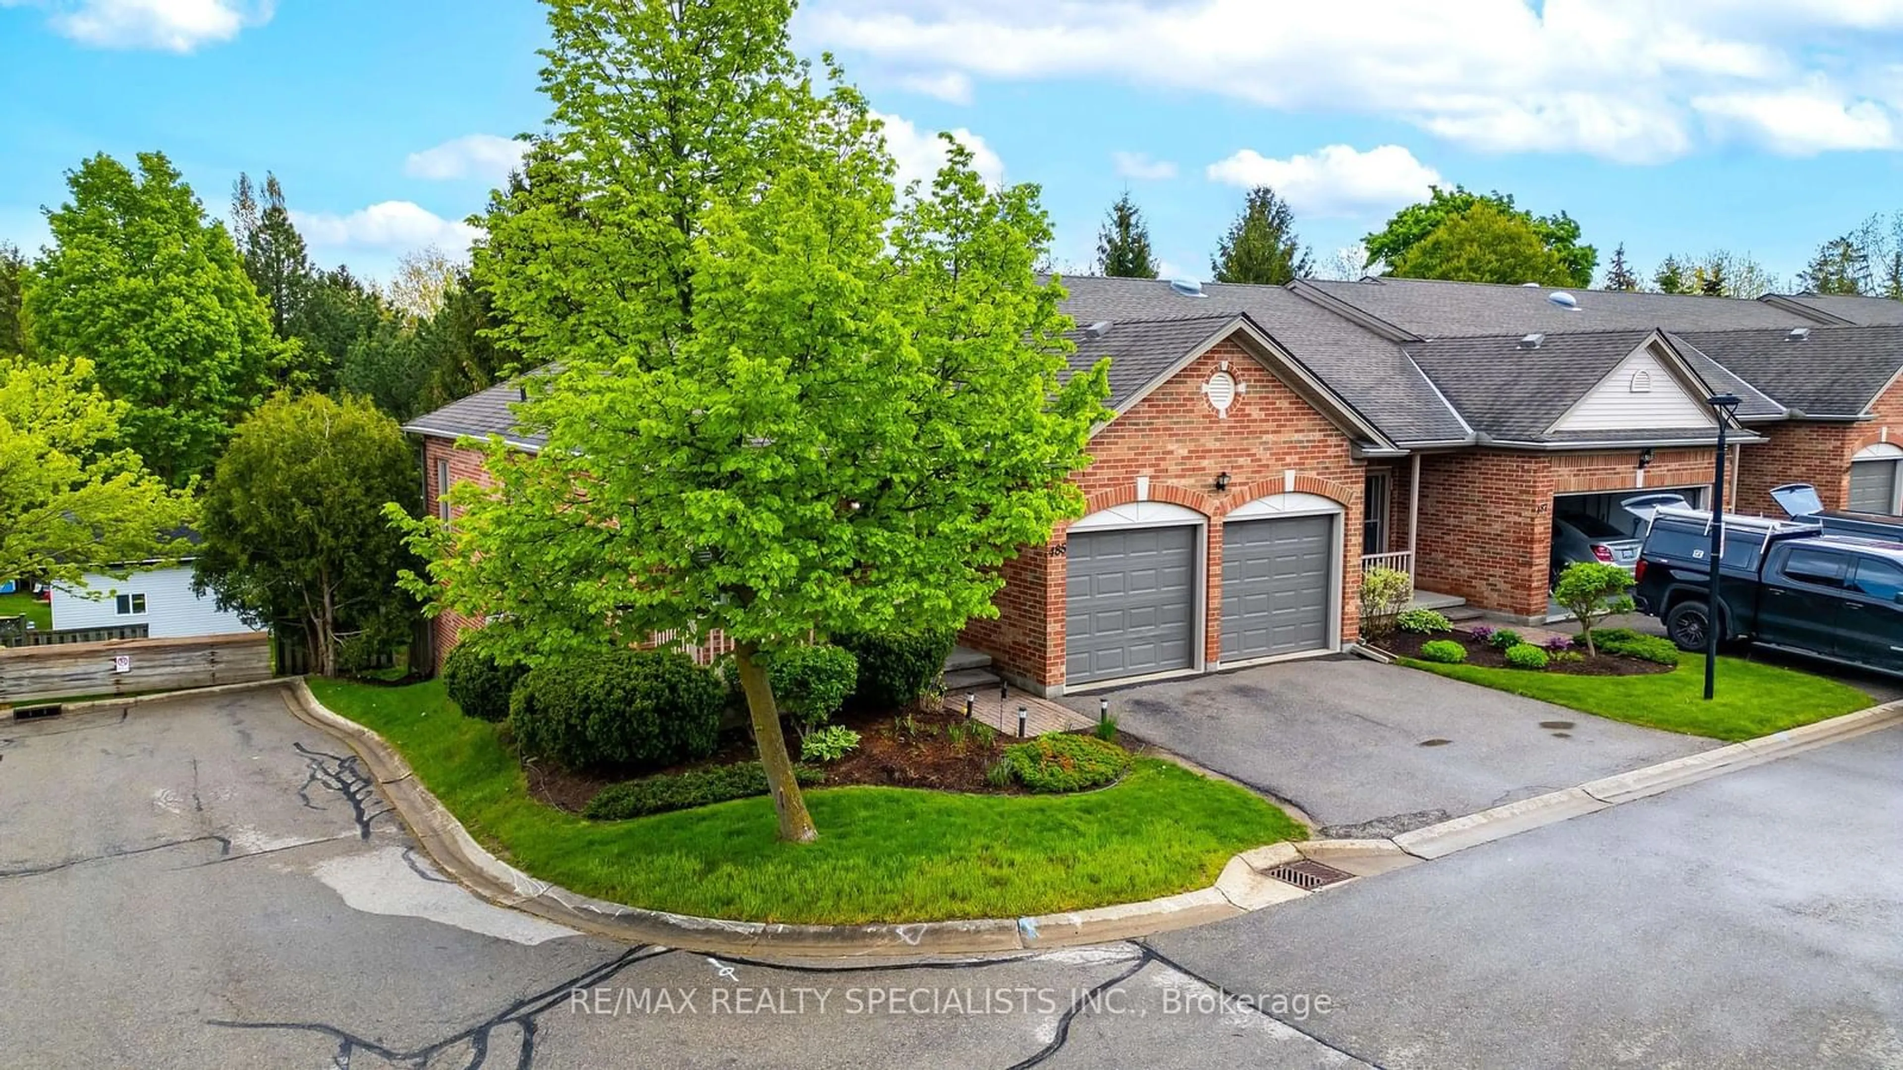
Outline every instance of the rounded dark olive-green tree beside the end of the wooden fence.
POLYGON ((417 560, 386 508, 421 508, 415 447, 363 398, 278 394, 232 436, 206 493, 194 586, 253 624, 304 636, 337 670, 350 636, 409 638, 417 604, 398 586, 417 560))

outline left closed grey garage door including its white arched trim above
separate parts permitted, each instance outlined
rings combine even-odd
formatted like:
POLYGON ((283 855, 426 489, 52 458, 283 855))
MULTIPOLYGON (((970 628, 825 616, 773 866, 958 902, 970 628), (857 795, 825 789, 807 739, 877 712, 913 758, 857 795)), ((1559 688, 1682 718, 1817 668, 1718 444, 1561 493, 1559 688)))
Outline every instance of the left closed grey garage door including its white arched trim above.
POLYGON ((1203 670, 1207 516, 1117 505, 1071 524, 1066 556, 1066 689, 1203 670))

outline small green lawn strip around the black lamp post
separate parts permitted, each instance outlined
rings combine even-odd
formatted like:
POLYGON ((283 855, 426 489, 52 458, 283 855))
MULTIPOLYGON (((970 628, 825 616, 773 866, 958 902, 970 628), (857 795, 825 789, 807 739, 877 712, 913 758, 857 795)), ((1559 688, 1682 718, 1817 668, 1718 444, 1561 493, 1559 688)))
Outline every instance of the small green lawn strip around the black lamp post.
POLYGON ((1717 687, 1709 703, 1705 701, 1705 659, 1692 653, 1678 655, 1677 670, 1652 676, 1566 676, 1522 668, 1401 661, 1412 668, 1541 699, 1600 718, 1728 743, 1808 725, 1873 704, 1869 695, 1848 684, 1736 657, 1718 659, 1717 687))

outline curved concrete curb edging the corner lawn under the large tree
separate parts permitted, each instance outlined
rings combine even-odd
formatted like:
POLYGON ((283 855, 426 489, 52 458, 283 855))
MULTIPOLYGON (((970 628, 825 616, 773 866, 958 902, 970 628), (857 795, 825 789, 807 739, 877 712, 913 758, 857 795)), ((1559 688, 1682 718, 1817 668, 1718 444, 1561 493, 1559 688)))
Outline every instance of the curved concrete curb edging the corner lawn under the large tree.
MULTIPOLYGON (((1246 910, 1281 901, 1265 891, 1258 891, 1250 897, 1258 906, 1245 908, 1233 902, 1220 889, 1218 882, 1218 885, 1180 895, 1069 914, 919 921, 912 925, 776 925, 622 906, 531 878, 497 859, 417 781, 409 763, 403 762, 403 756, 396 748, 375 731, 325 708, 310 693, 310 685, 304 680, 291 682, 285 704, 304 723, 320 727, 350 744, 377 779, 377 786, 383 788, 384 796, 396 807, 398 817, 445 874, 499 906, 512 906, 558 925, 620 941, 710 954, 771 952, 788 958, 1010 954, 1148 937, 1168 929, 1235 918, 1246 910)), ((1281 882, 1256 874, 1245 857, 1283 859, 1285 853, 1288 859, 1300 857, 1292 845, 1273 843, 1235 855, 1229 859, 1224 874, 1241 866, 1248 870, 1254 882, 1279 885, 1281 882), (1264 851, 1267 855, 1260 855, 1264 851)), ((1245 878, 1241 874, 1233 876, 1231 887, 1239 880, 1245 878)), ((1307 895, 1294 885, 1283 887, 1294 893, 1294 899, 1307 895)))

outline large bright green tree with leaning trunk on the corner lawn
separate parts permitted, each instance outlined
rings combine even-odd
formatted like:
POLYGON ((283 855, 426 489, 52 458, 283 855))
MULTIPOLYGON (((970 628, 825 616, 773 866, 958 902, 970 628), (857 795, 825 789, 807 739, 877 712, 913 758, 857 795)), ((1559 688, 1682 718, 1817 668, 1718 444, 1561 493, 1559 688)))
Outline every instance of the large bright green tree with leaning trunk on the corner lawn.
POLYGON ((775 651, 991 613, 997 567, 1081 510, 1108 383, 1066 381, 1037 190, 988 190, 948 139, 894 217, 875 122, 811 86, 790 15, 550 0, 561 152, 531 152, 478 257, 504 333, 563 362, 520 409, 548 446, 491 442, 497 487, 407 527, 432 560, 411 590, 521 621, 516 661, 729 634, 801 842, 775 651))

